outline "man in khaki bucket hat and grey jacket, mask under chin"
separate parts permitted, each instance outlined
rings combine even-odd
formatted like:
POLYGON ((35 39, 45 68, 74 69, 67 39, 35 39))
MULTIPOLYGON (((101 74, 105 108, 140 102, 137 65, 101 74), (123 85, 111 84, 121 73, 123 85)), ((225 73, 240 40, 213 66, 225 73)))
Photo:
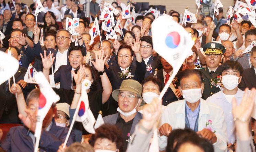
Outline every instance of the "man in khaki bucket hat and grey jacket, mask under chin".
POLYGON ((120 89, 112 92, 112 97, 118 102, 117 111, 119 113, 103 117, 105 124, 115 124, 123 133, 124 150, 130 141, 135 126, 142 119, 142 114, 137 112, 142 100, 142 85, 132 79, 124 80, 120 89))

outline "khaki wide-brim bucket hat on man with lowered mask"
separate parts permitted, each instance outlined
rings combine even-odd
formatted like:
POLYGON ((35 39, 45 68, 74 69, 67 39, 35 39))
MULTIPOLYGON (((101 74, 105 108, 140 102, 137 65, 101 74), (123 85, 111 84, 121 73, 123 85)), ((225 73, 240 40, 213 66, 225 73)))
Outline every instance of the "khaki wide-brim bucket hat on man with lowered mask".
POLYGON ((141 106, 143 106, 145 104, 145 102, 144 102, 144 100, 141 96, 142 85, 138 81, 132 80, 132 79, 124 80, 121 83, 120 88, 116 89, 112 92, 112 97, 117 102, 118 102, 118 94, 119 94, 120 91, 129 91, 129 92, 132 92, 132 93, 136 93, 138 95, 138 97, 142 99, 141 106))

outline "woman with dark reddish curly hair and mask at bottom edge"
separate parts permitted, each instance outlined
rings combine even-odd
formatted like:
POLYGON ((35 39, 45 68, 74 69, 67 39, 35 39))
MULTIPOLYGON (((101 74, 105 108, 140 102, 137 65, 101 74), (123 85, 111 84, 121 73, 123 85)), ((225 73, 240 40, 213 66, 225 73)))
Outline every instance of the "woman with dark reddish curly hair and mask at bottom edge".
POLYGON ((95 152, 108 150, 109 152, 124 152, 121 130, 115 125, 104 124, 95 130, 89 140, 95 152))

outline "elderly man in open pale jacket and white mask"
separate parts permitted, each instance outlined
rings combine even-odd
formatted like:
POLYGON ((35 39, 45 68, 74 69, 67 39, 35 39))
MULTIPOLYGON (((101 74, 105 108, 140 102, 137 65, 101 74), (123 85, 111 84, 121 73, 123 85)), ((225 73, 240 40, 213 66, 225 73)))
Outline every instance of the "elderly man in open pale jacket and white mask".
POLYGON ((172 129, 190 128, 209 139, 215 152, 227 151, 227 134, 223 110, 205 102, 201 96, 204 83, 198 70, 185 70, 178 76, 179 89, 185 100, 170 103, 164 110, 160 124, 159 148, 164 150, 172 129))

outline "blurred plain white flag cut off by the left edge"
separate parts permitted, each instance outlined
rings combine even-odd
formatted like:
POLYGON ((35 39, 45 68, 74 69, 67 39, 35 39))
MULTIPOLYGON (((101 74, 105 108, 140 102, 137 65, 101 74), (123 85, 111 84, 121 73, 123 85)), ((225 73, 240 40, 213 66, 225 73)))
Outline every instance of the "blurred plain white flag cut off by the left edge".
POLYGON ((19 69, 19 62, 4 51, 0 51, 0 85, 11 78, 19 69))

